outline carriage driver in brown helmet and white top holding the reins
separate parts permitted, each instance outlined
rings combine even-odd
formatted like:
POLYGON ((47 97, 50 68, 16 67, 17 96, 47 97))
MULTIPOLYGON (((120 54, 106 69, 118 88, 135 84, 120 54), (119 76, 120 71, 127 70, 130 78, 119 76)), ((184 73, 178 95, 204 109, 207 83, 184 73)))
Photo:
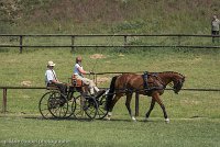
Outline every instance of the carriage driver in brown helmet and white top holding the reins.
POLYGON ((76 77, 76 79, 80 79, 85 84, 88 86, 88 89, 91 95, 94 97, 96 95, 96 98, 99 98, 101 94, 105 93, 105 90, 100 91, 92 80, 84 77, 84 75, 92 74, 92 72, 84 70, 81 60, 82 60, 81 56, 76 57, 76 65, 74 67, 74 76, 76 77))

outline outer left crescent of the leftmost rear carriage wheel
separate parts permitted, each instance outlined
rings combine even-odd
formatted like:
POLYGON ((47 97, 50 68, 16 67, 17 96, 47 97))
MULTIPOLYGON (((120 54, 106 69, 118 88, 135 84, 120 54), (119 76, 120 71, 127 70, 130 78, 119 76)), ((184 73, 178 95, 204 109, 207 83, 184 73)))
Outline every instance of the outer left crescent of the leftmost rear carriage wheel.
POLYGON ((48 111, 48 99, 53 92, 46 92, 38 102, 38 111, 44 118, 53 117, 52 113, 48 111))

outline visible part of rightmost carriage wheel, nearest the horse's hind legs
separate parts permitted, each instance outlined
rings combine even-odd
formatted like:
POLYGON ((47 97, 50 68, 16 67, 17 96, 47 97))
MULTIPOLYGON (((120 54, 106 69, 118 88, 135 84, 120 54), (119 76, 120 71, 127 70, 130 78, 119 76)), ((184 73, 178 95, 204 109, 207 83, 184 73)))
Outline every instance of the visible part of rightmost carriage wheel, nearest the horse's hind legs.
POLYGON ((102 120, 108 114, 108 111, 106 110, 106 102, 107 102, 107 95, 102 95, 99 100, 97 100, 98 103, 98 112, 96 118, 102 120))

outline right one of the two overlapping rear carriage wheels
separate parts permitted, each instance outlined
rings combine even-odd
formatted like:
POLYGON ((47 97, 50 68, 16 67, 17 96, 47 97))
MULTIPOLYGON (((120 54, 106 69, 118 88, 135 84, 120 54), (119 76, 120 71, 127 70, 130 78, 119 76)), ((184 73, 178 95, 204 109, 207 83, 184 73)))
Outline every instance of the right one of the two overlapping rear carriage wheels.
POLYGON ((54 91, 47 101, 48 111, 56 118, 64 118, 68 111, 68 100, 59 91, 54 91))

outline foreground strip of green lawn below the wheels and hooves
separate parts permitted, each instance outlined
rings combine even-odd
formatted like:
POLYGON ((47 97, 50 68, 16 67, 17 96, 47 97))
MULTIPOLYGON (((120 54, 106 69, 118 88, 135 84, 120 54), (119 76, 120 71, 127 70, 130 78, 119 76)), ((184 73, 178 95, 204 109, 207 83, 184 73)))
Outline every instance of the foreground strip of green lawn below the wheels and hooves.
POLYGON ((0 140, 7 146, 170 146, 217 147, 220 120, 161 118, 151 122, 120 120, 80 122, 37 117, 0 117, 0 140))

